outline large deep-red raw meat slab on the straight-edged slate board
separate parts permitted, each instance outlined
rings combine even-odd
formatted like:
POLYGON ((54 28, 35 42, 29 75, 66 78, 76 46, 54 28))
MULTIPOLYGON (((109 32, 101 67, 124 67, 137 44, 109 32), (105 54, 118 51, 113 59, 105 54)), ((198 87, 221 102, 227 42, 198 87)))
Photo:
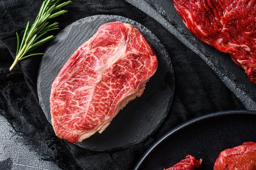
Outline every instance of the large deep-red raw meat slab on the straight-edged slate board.
POLYGON ((256 0, 173 0, 187 28, 227 52, 256 84, 256 0))

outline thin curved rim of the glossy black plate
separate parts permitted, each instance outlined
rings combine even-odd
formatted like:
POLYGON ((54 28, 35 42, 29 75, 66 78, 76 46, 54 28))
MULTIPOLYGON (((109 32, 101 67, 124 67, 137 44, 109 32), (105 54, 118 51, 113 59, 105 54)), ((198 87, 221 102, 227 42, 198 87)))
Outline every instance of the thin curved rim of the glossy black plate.
POLYGON ((136 164, 134 170, 138 170, 146 157, 151 153, 153 150, 155 150, 160 143, 162 143, 165 139, 167 139, 169 136, 172 136, 182 130, 183 128, 186 128, 194 123, 206 120, 206 119, 211 119, 219 116, 226 116, 226 115, 240 115, 240 114, 246 114, 246 115, 256 115, 256 111, 251 111, 251 110, 228 110, 228 111, 219 111, 219 112, 214 112, 210 114, 206 114, 191 120, 188 120, 181 125, 176 126, 172 130, 170 130, 167 134, 162 136, 160 139, 158 139, 156 142, 154 142, 149 149, 141 156, 139 159, 138 163, 136 164))

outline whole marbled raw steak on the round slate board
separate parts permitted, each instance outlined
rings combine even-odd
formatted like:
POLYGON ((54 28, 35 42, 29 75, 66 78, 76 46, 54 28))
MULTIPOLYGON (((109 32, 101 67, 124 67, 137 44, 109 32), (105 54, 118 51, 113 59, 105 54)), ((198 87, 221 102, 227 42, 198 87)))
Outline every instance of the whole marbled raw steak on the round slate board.
POLYGON ((157 67, 155 52, 135 27, 121 22, 99 27, 52 84, 56 135, 75 143, 103 132, 120 109, 142 95, 157 67))

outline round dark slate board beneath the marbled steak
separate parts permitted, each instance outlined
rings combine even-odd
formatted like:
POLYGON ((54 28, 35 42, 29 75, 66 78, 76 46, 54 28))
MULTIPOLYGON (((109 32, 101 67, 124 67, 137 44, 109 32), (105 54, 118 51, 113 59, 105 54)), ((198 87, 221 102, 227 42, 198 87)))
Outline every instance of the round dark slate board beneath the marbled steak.
POLYGON ((145 140, 166 118, 174 96, 174 71, 167 51, 147 28, 120 16, 99 15, 80 19, 63 29, 49 44, 40 64, 38 94, 40 105, 51 122, 49 99, 51 85, 72 53, 98 30, 113 21, 134 25, 145 36, 158 56, 158 69, 146 85, 143 95, 130 102, 102 134, 76 143, 94 151, 123 149, 145 140))

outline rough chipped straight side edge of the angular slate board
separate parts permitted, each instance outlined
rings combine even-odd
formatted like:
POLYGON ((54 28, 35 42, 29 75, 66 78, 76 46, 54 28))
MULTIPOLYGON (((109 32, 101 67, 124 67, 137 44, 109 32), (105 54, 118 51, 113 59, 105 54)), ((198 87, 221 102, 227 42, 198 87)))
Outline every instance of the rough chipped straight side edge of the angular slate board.
POLYGON ((246 109, 256 110, 256 101, 253 100, 249 95, 247 95, 245 91, 239 88, 236 83, 228 76, 226 76, 220 69, 218 69, 218 67, 213 62, 211 62, 199 49, 195 49, 193 45, 186 38, 184 38, 182 34, 180 34, 172 24, 168 22, 164 17, 162 17, 148 2, 146 2, 145 0, 126 1, 136 6, 150 17, 153 17, 171 34, 176 36, 177 39, 179 39, 184 45, 197 53, 197 55, 199 55, 206 62, 206 64, 217 74, 217 76, 221 79, 224 85, 226 85, 236 95, 236 97, 243 103, 246 109))

